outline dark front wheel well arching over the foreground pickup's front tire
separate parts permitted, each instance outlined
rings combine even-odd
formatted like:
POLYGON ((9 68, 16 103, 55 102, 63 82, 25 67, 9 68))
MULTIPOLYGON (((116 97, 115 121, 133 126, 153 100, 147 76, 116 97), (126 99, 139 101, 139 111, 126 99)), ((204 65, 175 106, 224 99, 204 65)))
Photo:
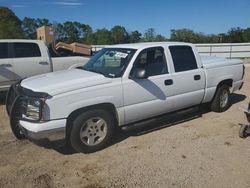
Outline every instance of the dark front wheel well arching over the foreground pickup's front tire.
POLYGON ((77 110, 71 112, 71 114, 68 116, 67 124, 66 124, 66 139, 69 138, 70 126, 71 126, 72 121, 80 113, 83 113, 83 112, 86 112, 86 111, 92 110, 92 109, 103 109, 103 110, 107 110, 107 111, 111 112, 113 117, 115 117, 116 125, 118 124, 118 114, 116 112, 115 106, 113 104, 111 104, 111 103, 101 103, 101 104, 96 104, 96 105, 92 105, 92 106, 83 107, 83 108, 80 108, 80 109, 77 109, 77 110))

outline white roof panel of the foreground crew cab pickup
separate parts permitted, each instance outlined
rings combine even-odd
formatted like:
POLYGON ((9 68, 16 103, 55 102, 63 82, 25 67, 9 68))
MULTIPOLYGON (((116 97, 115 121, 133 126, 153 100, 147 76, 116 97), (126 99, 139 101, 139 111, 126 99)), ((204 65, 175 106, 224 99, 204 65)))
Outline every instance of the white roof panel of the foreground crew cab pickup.
POLYGON ((155 46, 170 46, 170 45, 193 45, 192 43, 185 42, 141 42, 141 43, 129 43, 129 44, 116 44, 107 46, 107 48, 132 48, 132 49, 140 49, 140 48, 150 48, 155 46))

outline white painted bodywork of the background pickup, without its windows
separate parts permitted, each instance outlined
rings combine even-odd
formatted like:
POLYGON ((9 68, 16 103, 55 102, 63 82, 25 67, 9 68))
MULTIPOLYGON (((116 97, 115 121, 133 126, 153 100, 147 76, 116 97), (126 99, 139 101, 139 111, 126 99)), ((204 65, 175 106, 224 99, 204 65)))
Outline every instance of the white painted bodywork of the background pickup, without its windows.
MULTIPOLYGON (((56 57, 51 58, 47 46, 40 40, 0 40, 0 43, 34 43, 37 44, 41 52, 40 57, 24 58, 0 58, 0 91, 6 91, 11 84, 20 79, 34 75, 73 69, 83 66, 89 58, 87 57, 56 57)), ((10 52, 9 52, 10 53, 10 52)))

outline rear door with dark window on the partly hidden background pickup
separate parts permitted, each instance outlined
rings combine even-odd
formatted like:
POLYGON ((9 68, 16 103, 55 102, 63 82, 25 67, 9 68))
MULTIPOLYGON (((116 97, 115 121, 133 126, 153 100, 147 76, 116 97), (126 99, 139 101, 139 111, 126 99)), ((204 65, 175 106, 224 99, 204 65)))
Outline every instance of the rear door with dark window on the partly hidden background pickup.
POLYGON ((13 63, 15 80, 50 72, 50 62, 37 43, 14 42, 13 63))

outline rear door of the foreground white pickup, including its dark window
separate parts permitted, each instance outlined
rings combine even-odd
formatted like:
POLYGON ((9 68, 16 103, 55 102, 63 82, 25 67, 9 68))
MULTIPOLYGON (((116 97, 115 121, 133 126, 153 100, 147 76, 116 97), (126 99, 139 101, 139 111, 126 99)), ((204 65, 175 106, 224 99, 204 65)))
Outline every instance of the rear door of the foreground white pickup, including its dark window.
POLYGON ((172 74, 176 110, 200 104, 205 91, 205 72, 197 66, 190 46, 169 46, 175 72, 172 74))

